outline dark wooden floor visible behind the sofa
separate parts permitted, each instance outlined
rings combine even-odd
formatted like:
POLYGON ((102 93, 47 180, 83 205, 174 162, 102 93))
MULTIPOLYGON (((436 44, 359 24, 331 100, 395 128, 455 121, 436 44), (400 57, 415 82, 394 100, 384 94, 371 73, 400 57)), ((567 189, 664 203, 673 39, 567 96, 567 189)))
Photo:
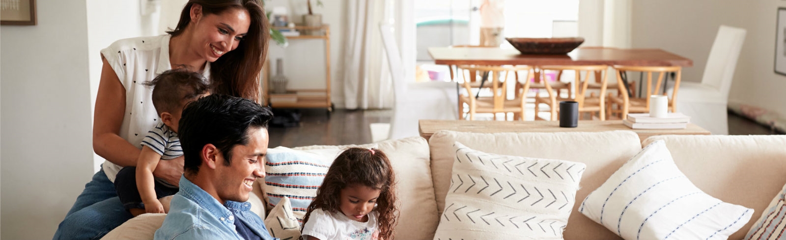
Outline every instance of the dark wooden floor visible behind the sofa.
MULTIPOLYGON (((296 110, 301 118, 294 127, 270 126, 269 147, 301 147, 310 145, 346 145, 371 143, 369 123, 390 122, 391 111, 337 109, 330 116, 325 110, 296 110)), ((729 113, 729 135, 781 134, 729 113)))

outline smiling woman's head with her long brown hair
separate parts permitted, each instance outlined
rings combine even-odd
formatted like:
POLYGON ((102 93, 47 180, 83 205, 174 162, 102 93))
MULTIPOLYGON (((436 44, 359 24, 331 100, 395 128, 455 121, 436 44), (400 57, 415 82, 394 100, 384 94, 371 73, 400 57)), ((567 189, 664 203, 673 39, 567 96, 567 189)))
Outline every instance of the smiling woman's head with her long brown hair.
POLYGON ((213 82, 217 93, 256 100, 256 78, 270 38, 267 26, 259 1, 191 0, 183 8, 178 26, 167 33, 173 43, 184 42, 183 46, 193 48, 192 54, 212 60, 211 76, 221 80, 213 82), (238 51, 230 52, 233 49, 238 51), (220 57, 223 55, 226 57, 220 57), (237 71, 241 67, 243 71, 237 71))

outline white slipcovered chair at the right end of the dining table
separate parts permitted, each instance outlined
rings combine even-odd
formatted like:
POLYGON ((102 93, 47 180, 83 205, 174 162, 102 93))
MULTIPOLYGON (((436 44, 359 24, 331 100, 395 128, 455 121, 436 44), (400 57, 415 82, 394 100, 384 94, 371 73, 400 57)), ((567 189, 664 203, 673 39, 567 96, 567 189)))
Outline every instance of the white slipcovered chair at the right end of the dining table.
POLYGON ((701 82, 682 81, 678 89, 677 111, 712 134, 729 134, 726 105, 745 33, 745 29, 721 25, 701 82))

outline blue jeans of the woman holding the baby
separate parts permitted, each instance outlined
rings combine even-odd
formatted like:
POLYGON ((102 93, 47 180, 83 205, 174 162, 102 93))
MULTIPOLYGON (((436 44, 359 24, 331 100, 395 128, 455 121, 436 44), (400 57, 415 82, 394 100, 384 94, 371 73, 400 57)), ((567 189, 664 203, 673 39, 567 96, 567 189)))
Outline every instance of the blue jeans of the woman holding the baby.
POLYGON ((85 184, 53 239, 99 239, 132 217, 117 198, 115 185, 101 169, 85 184))

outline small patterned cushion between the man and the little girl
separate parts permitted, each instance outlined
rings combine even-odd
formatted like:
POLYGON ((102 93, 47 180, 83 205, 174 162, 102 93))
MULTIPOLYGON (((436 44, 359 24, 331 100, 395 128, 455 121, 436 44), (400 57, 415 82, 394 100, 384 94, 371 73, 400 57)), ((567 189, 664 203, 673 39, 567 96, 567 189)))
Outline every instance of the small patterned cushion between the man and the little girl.
POLYGON ((270 214, 265 219, 265 227, 274 238, 282 240, 300 238, 300 224, 292 213, 289 198, 281 198, 281 201, 270 210, 270 214))

